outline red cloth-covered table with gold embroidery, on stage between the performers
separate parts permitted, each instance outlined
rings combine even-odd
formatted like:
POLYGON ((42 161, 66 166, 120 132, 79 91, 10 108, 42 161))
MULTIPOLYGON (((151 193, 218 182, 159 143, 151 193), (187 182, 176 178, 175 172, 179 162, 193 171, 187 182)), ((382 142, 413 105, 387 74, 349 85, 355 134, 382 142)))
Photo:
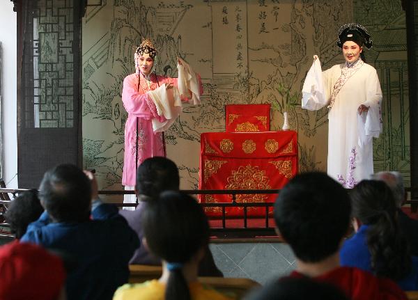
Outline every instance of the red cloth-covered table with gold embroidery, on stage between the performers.
MULTIPOLYGON (((201 134, 199 189, 281 189, 297 173, 297 133, 207 132, 201 134)), ((274 202, 275 194, 236 196, 237 203, 274 202)), ((201 195, 201 203, 230 203, 231 195, 201 195)), ((221 216, 220 207, 206 207, 209 216, 221 216)), ((263 207, 251 207, 249 216, 263 216, 263 207)), ((242 208, 226 209, 241 216, 242 208)))

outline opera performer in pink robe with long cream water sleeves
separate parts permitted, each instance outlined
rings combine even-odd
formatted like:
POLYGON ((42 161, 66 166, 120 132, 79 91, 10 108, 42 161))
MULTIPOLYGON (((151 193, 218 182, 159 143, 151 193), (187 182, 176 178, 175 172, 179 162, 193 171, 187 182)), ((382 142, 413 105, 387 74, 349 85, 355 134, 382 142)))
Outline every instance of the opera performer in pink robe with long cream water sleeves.
MULTIPOLYGON (((122 102, 128 113, 125 123, 125 154, 122 184, 134 189, 137 166, 148 157, 165 157, 164 130, 181 112, 181 101, 200 103, 201 79, 178 58, 178 79, 157 76, 153 72, 157 50, 144 40, 134 54, 134 74, 123 81, 122 102)), ((125 195, 124 203, 135 203, 134 195, 125 195)))

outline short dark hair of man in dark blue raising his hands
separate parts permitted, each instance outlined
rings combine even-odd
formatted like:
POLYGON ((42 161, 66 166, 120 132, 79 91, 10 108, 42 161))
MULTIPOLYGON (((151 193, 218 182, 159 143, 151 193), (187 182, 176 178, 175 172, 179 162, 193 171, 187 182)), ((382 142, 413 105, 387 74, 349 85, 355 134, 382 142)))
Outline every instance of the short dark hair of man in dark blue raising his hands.
POLYGON ((86 221, 91 210, 91 182, 77 166, 61 164, 45 173, 39 198, 54 221, 86 221))

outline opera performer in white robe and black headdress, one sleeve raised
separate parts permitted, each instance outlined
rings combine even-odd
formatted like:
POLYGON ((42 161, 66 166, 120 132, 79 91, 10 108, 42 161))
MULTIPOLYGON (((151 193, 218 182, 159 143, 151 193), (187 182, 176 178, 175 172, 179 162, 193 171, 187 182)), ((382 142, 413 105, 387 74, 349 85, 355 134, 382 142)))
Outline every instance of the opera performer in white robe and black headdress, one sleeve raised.
POLYGON ((382 130, 382 90, 378 74, 364 63, 363 47, 372 46, 364 26, 346 24, 339 41, 346 63, 322 72, 318 56, 302 89, 302 108, 317 110, 327 105, 327 173, 346 188, 373 174, 373 137, 382 130))

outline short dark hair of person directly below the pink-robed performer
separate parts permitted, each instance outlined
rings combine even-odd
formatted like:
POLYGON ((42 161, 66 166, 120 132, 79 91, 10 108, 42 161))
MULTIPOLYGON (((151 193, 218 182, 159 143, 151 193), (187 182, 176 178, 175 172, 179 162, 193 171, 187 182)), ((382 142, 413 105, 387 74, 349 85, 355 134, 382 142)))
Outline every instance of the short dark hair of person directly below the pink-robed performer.
POLYGON ((166 157, 145 159, 137 169, 137 194, 156 198, 162 191, 178 191, 179 186, 178 168, 166 157))

